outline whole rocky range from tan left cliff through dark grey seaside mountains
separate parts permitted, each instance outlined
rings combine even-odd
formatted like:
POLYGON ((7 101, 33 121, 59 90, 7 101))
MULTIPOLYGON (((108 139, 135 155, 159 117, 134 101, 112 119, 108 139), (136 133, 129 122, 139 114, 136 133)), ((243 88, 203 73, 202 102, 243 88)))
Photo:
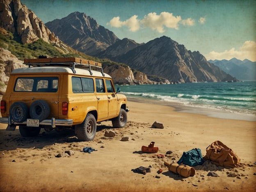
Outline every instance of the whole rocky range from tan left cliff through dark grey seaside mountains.
POLYGON ((2 0, 0 7, 0 27, 8 31, 14 26, 11 32, 24 39, 22 43, 30 43, 26 39, 36 36, 34 41, 39 38, 46 39, 59 51, 65 50, 65 46, 71 46, 82 53, 98 57, 113 78, 122 78, 117 75, 121 74, 120 71, 116 70, 121 69, 123 73, 128 65, 128 69, 132 68, 133 73, 126 73, 130 76, 120 80, 125 84, 155 83, 153 79, 162 79, 164 83, 237 81, 218 66, 207 62, 198 51, 187 50, 184 45, 169 37, 163 36, 139 44, 128 38, 118 39, 113 32, 98 25, 85 13, 74 12, 44 25, 34 12, 19 0, 2 0), (16 13, 18 14, 13 17, 16 13), (21 23, 24 22, 26 27, 22 28, 21 23), (111 66, 115 62, 122 64, 118 67, 111 66), (135 77, 140 79, 135 80, 135 77), (130 81, 131 79, 133 80, 130 81))

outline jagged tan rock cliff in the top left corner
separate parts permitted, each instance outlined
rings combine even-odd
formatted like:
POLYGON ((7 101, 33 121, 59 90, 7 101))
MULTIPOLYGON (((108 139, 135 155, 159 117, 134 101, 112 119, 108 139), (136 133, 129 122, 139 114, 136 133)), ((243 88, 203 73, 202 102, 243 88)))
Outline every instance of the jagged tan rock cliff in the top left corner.
POLYGON ((19 0, 1 0, 0 27, 17 34, 23 44, 32 43, 41 38, 48 43, 60 46, 55 34, 50 32, 41 19, 19 0))

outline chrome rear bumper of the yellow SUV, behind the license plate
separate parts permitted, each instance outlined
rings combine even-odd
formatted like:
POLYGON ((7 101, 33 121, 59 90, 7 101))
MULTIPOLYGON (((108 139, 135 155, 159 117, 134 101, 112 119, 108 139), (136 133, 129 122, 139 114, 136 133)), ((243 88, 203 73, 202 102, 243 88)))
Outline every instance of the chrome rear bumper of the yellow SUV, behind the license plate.
MULTIPOLYGON (((27 124, 27 121, 24 121, 22 123, 17 123, 14 121, 11 121, 10 117, 1 117, 0 123, 7 123, 8 125, 11 124, 27 124)), ((39 125, 46 125, 46 126, 52 126, 55 128, 56 126, 72 126, 73 125, 73 119, 44 119, 43 121, 39 122, 39 125)))

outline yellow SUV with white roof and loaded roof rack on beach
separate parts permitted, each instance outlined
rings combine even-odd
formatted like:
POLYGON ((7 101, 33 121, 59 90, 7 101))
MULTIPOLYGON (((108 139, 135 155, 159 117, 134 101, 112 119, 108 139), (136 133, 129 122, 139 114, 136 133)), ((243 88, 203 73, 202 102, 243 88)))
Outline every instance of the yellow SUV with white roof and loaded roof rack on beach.
POLYGON ((28 67, 11 72, 1 101, 0 123, 23 137, 46 131, 75 130, 79 140, 91 141, 96 123, 111 120, 126 126, 127 99, 118 94, 101 63, 75 57, 24 59, 28 67))

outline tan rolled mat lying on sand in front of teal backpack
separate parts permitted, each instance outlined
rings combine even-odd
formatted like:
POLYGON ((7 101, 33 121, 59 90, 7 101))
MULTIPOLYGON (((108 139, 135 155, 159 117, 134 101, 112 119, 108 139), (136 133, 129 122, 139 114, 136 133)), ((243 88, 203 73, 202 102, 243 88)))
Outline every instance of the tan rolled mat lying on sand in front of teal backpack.
POLYGON ((178 163, 169 163, 165 161, 164 163, 169 167, 169 171, 179 174, 183 177, 194 176, 196 170, 194 167, 190 167, 188 165, 178 165, 178 163))

